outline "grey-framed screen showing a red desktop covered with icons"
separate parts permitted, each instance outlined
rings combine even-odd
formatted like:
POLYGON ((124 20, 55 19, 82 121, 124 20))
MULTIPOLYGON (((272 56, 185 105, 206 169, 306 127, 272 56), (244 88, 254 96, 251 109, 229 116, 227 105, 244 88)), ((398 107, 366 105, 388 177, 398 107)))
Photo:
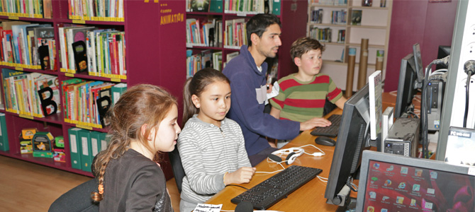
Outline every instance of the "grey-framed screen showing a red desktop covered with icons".
POLYGON ((474 211, 474 167, 364 151, 357 211, 474 211))

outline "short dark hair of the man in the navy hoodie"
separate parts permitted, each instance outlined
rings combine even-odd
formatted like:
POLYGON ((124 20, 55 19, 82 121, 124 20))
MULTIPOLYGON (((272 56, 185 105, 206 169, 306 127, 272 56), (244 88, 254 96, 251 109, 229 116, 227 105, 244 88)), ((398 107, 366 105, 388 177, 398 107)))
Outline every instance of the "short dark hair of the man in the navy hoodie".
POLYGON ((274 23, 279 24, 279 27, 281 27, 279 17, 273 14, 259 13, 255 16, 252 16, 252 18, 250 18, 246 23, 247 45, 252 46, 252 33, 255 33, 257 36, 262 37, 262 34, 264 34, 267 27, 269 27, 269 25, 273 25, 274 23))

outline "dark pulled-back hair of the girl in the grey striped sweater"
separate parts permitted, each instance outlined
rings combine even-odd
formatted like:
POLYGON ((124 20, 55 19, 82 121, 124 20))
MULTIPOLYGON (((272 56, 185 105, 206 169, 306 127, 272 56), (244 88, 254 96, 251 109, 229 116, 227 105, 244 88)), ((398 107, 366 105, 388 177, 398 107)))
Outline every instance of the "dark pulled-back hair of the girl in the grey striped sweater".
POLYGON ((216 81, 225 81, 230 83, 229 79, 216 69, 205 68, 196 72, 192 78, 186 79, 183 88, 183 119, 181 120, 181 127, 184 127, 188 119, 194 114, 199 113, 199 108, 196 108, 191 100, 193 95, 201 95, 206 89, 206 86, 216 81))

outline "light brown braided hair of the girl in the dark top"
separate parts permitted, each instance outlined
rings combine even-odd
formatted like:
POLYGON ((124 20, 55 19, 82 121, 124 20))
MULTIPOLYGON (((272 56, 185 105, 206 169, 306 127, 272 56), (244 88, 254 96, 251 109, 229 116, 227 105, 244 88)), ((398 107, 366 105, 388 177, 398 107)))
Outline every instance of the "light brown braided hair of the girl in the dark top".
MULTIPOLYGON (((108 131, 110 143, 105 151, 101 151, 94 161, 94 172, 99 183, 99 192, 93 192, 91 198, 101 201, 104 191, 104 173, 111 159, 121 157, 128 150, 130 141, 140 141, 150 152, 152 148, 147 143, 147 138, 152 128, 160 124, 177 105, 177 100, 166 90, 158 86, 139 84, 129 88, 116 105, 108 111, 111 126, 108 131), (141 127, 147 124, 145 133, 140 132, 141 127)), ((154 162, 158 162, 159 153, 155 154, 154 162)))

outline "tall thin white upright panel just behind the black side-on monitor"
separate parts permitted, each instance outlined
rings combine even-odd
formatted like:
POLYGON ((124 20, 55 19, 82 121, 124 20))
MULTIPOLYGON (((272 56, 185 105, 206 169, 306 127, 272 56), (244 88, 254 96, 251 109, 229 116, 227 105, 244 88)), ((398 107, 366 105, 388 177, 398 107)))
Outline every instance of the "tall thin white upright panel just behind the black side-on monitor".
MULTIPOLYGON (((377 136, 381 136, 381 117, 383 113, 382 100, 382 77, 381 71, 374 71, 368 77, 369 83, 369 119, 371 140, 376 140, 377 136)), ((381 138, 380 138, 381 139, 381 138)))

